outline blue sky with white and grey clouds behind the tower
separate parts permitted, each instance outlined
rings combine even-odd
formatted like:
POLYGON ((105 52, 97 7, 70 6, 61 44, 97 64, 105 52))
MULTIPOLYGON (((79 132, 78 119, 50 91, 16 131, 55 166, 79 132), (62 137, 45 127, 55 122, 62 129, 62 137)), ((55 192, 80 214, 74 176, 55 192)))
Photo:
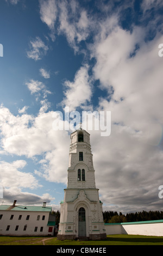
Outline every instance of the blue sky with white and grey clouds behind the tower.
POLYGON ((163 3, 1 0, 1 202, 60 209, 71 131, 53 113, 111 111, 91 134, 104 210, 162 210, 163 3), (102 174, 102 175, 101 175, 102 174))

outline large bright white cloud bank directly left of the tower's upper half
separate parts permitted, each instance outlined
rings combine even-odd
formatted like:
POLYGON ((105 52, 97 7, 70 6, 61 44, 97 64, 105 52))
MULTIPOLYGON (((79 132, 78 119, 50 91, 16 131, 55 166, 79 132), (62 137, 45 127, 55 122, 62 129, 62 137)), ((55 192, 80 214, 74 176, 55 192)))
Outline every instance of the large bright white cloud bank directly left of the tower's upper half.
MULTIPOLYGON (((1 106, 0 120, 1 145, 5 153, 28 158, 42 155, 42 160, 46 161, 40 162, 42 168, 38 172, 43 178, 66 183, 70 137, 67 131, 53 130, 53 112, 40 111, 36 117, 27 114, 15 116, 1 106)), ((15 171, 15 178, 16 174, 19 173, 15 171)), ((34 184, 32 177, 30 184, 34 184)))

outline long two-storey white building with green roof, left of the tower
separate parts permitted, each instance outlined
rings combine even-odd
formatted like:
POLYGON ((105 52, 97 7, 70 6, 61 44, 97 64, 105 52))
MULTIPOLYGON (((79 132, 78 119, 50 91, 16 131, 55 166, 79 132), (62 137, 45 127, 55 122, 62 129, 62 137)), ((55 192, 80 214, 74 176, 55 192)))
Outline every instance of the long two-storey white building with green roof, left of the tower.
POLYGON ((55 216, 52 207, 0 205, 0 235, 45 236, 54 235, 55 216))

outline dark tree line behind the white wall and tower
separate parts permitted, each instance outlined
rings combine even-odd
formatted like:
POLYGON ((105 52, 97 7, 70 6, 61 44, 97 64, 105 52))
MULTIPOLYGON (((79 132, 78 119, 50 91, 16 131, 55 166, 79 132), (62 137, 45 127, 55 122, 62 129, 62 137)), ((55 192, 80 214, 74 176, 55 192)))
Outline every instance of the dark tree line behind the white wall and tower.
MULTIPOLYGON (((53 211, 55 215, 55 224, 59 226, 60 212, 53 211)), ((119 214, 116 211, 104 211, 103 212, 104 223, 122 223, 122 222, 135 222, 135 221, 156 221, 163 220, 163 211, 140 211, 131 212, 129 214, 119 214)))

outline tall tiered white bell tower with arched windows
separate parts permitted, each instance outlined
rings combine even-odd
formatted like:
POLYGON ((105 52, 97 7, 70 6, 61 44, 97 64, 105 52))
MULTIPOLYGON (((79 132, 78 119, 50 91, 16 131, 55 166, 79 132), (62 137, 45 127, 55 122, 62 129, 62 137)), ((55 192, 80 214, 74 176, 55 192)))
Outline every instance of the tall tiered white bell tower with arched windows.
POLYGON ((105 239, 102 203, 95 184, 90 134, 81 128, 71 134, 68 182, 60 203, 58 239, 105 239))

